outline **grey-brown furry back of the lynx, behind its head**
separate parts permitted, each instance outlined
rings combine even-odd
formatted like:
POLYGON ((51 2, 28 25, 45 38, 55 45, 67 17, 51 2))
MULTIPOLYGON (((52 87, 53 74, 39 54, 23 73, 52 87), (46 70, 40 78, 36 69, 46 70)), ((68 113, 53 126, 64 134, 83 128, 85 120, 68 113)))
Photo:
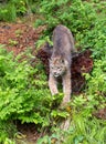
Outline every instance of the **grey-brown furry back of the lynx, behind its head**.
POLYGON ((66 27, 60 24, 53 31, 52 58, 61 55, 71 63, 72 52, 76 52, 72 32, 66 27))

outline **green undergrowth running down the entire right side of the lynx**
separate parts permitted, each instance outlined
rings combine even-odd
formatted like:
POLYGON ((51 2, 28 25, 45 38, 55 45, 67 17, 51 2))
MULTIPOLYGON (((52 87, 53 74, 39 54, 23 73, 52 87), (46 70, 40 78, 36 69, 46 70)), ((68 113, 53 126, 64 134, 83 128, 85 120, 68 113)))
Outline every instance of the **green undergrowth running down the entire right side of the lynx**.
POLYGON ((91 49, 94 68, 89 74, 84 73, 86 85, 83 94, 72 97, 70 130, 54 130, 51 136, 45 135, 38 144, 105 144, 106 121, 97 120, 93 113, 106 107, 106 2, 44 0, 40 6, 43 19, 39 19, 35 25, 47 28, 40 42, 46 35, 51 38, 57 24, 64 24, 73 32, 77 49, 91 49))

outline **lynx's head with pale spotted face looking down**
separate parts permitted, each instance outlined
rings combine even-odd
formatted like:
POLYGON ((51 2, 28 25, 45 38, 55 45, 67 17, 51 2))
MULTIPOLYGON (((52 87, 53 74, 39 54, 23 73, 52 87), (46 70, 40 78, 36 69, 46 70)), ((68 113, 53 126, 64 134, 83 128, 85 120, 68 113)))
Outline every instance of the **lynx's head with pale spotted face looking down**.
POLYGON ((66 72, 68 63, 62 58, 52 58, 50 60, 50 72, 55 76, 62 76, 66 72))

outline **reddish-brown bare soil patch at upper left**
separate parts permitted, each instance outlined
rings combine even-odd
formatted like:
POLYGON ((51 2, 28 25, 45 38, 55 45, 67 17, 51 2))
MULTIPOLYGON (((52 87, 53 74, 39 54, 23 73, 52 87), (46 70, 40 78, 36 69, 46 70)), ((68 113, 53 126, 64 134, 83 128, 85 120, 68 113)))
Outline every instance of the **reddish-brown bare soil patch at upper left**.
POLYGON ((14 55, 18 55, 25 49, 35 49, 35 42, 43 30, 44 27, 33 29, 23 23, 1 23, 0 43, 6 44, 8 51, 13 51, 14 55))

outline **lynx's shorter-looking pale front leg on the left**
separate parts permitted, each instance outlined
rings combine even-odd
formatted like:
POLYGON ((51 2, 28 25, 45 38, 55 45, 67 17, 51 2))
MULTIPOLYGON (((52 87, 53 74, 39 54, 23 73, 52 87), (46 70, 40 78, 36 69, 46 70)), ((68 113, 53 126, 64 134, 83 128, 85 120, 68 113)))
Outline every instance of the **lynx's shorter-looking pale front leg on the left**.
POLYGON ((55 95, 59 93, 56 80, 52 74, 50 74, 50 78, 49 78, 49 88, 50 88, 52 95, 55 95))

